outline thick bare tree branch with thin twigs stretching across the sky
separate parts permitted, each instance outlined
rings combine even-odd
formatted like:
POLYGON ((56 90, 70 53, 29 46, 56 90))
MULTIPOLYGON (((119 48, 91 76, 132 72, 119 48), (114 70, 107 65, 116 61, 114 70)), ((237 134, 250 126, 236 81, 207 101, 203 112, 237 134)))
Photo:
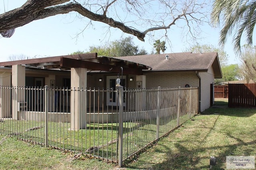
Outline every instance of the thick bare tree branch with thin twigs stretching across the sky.
MULTIPOLYGON (((185 25, 189 28, 189 33, 193 34, 191 31, 192 22, 195 21, 196 23, 203 22, 205 15, 200 12, 201 6, 203 4, 196 4, 194 2, 195 0, 184 0, 184 4, 180 3, 180 1, 162 1, 162 5, 165 6, 164 13, 156 13, 155 16, 158 17, 156 20, 152 20, 149 18, 143 18, 142 15, 147 12, 146 7, 150 6, 150 3, 155 3, 155 1, 141 1, 140 0, 126 0, 125 2, 119 2, 117 0, 112 0, 109 4, 101 5, 101 4, 87 4, 88 2, 83 5, 77 3, 70 2, 68 4, 65 4, 66 2, 69 2, 69 0, 28 0, 23 6, 20 8, 16 8, 12 11, 6 12, 4 14, 0 15, 0 33, 14 29, 20 26, 23 26, 27 23, 30 23, 34 20, 40 20, 44 19, 50 16, 55 16, 58 14, 68 14, 69 12, 75 11, 78 12, 80 15, 93 20, 93 21, 99 21, 102 23, 108 24, 110 27, 118 28, 124 33, 128 33, 131 35, 136 36, 141 41, 144 41, 144 37, 147 33, 150 31, 156 31, 160 29, 170 29, 172 25, 175 25, 176 22, 180 19, 185 20, 185 25), (188 1, 188 2, 187 2, 188 1), (117 15, 116 18, 118 20, 114 20, 110 17, 107 17, 107 11, 108 9, 116 3, 126 3, 125 7, 122 6, 122 4, 119 4, 120 8, 126 8, 127 12, 130 14, 137 13, 138 19, 141 21, 140 25, 144 25, 144 23, 147 23, 150 25, 145 29, 145 31, 139 31, 138 29, 134 28, 134 25, 139 25, 136 23, 136 21, 132 21, 134 24, 132 26, 125 25, 125 23, 120 19, 120 17, 117 15), (183 7, 182 7, 182 5, 183 7), (84 6, 88 7, 86 9, 84 6), (98 6, 98 9, 92 10, 91 6, 98 6), (103 7, 105 6, 105 10, 103 7), (130 6, 130 7, 129 7, 130 6), (145 7, 144 7, 145 6, 145 7), (178 9, 181 8, 181 9, 178 9), (103 9, 103 10, 99 10, 103 9), (133 10, 133 12, 132 12, 133 10), (144 11, 143 11, 144 10, 144 11), (93 12, 96 11, 96 12, 93 12), (102 11, 102 14, 97 14, 102 11), (194 16, 195 15, 195 16, 194 16), (200 16, 203 15, 203 16, 200 16), (144 21, 144 23, 142 22, 144 21), (162 23, 162 25, 159 25, 158 23, 162 23)), ((160 3, 158 2, 158 3, 160 3)), ((113 7, 115 9, 115 6, 113 7)), ((193 35, 192 35, 193 36, 193 35)))

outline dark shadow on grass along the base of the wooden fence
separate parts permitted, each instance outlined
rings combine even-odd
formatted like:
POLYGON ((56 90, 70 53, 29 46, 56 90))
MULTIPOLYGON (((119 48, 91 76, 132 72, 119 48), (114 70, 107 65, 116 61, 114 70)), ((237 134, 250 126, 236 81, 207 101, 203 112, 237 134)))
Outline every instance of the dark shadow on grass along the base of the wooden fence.
POLYGON ((210 107, 202 115, 226 115, 235 117, 250 117, 256 113, 256 108, 210 107))

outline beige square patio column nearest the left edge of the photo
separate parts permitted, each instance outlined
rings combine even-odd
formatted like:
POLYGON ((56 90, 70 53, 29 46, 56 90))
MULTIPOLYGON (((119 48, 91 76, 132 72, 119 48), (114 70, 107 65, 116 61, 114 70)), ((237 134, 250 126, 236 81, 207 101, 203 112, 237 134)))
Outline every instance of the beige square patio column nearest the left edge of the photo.
POLYGON ((25 101, 24 90, 19 87, 25 87, 25 66, 12 66, 12 86, 15 88, 12 92, 12 119, 20 119, 18 102, 25 101))

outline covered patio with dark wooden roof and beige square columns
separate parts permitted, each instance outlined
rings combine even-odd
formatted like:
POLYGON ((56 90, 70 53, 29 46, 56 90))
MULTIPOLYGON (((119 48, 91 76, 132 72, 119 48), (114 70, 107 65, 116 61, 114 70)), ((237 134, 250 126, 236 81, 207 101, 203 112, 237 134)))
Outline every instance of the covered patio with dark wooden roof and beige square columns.
MULTIPOLYGON (((98 57, 97 53, 8 61, 0 63, 0 66, 3 66, 4 68, 12 68, 10 72, 11 80, 9 77, 9 79, 7 78, 2 82, 2 86, 12 87, 12 98, 7 100, 9 101, 8 105, 12 106, 12 109, 6 113, 6 110, 8 109, 7 106, 6 108, 2 107, 0 110, 1 117, 6 115, 16 120, 28 119, 28 117, 33 117, 32 115, 34 115, 35 112, 37 116, 34 117, 42 117, 46 101, 44 98, 45 90, 43 87, 48 86, 50 92, 49 96, 47 97, 49 100, 48 111, 52 113, 56 112, 54 117, 56 117, 56 120, 59 121, 61 121, 60 117, 62 117, 60 116, 61 112, 74 114, 74 116, 72 116, 73 118, 70 118, 69 115, 65 116, 65 119, 68 119, 69 122, 74 122, 74 125, 72 125, 73 129, 85 128, 84 126, 86 126, 86 123, 82 125, 82 123, 80 123, 81 121, 79 121, 82 119, 82 112, 85 110, 87 113, 95 112, 91 111, 90 109, 95 105, 95 98, 91 102, 91 99, 89 99, 87 96, 84 96, 84 98, 88 98, 89 100, 83 100, 83 102, 90 102, 89 104, 86 104, 86 108, 82 108, 81 106, 83 106, 84 103, 79 99, 80 96, 76 94, 79 93, 79 89, 80 91, 87 91, 88 74, 93 72, 104 72, 109 74, 115 73, 116 76, 114 77, 116 78, 117 74, 136 75, 136 80, 142 80, 140 82, 142 82, 141 87, 143 88, 145 87, 146 78, 142 75, 142 70, 148 69, 148 66, 139 63, 124 61, 112 57, 98 57), (57 74, 49 73, 47 76, 44 76, 44 79, 42 79, 42 76, 39 75, 39 72, 46 72, 49 70, 69 74, 70 80, 64 79, 65 81, 63 82, 63 86, 61 88, 56 88, 56 84, 60 84, 60 82, 57 82, 57 74), (32 85, 32 87, 28 88, 26 84, 28 84, 27 82, 29 81, 33 81, 30 80, 31 78, 34 80, 34 86, 32 85), (8 84, 7 82, 11 82, 11 84, 8 84)), ((97 80, 94 81, 96 82, 97 80)), ((115 83, 116 81, 114 81, 114 85, 115 83)), ((94 84, 94 87, 96 85, 97 84, 94 84)), ((110 100, 116 100, 116 89, 108 88, 106 90, 108 90, 108 92, 102 92, 100 94, 100 99, 98 99, 100 101, 96 102, 97 104, 102 103, 103 100, 106 100, 106 97, 110 98, 110 100), (105 96, 105 98, 102 98, 102 96, 105 96)), ((1 101, 6 100, 4 98, 6 98, 5 94, 8 94, 7 91, 9 90, 2 90, 3 93, 1 93, 1 101)), ((91 90, 89 91, 92 92, 91 90)), ((102 118, 100 119, 103 119, 104 112, 106 113, 106 109, 108 107, 114 106, 116 108, 117 106, 116 102, 112 102, 108 106, 104 105, 105 104, 101 104, 99 107, 102 108, 100 111, 102 113, 102 118)))

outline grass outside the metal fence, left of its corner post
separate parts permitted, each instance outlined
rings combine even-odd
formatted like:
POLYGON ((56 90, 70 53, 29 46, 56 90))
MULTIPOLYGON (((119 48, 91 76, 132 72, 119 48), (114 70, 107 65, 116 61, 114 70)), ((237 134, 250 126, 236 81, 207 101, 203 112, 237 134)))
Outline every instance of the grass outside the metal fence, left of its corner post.
POLYGON ((0 135, 0 169, 26 169, 26 170, 110 170, 112 164, 106 164, 98 160, 74 160, 70 162, 72 155, 59 150, 48 149, 25 143, 12 137, 0 135))

